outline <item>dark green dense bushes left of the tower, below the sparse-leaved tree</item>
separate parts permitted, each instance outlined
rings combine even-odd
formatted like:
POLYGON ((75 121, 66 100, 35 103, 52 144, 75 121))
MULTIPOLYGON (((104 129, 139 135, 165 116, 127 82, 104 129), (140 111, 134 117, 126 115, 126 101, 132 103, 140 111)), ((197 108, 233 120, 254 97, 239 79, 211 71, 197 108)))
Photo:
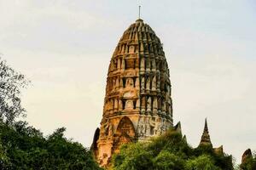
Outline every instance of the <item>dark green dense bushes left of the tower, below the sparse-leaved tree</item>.
POLYGON ((81 144, 64 137, 58 128, 44 138, 25 122, 0 124, 0 169, 99 169, 81 144))

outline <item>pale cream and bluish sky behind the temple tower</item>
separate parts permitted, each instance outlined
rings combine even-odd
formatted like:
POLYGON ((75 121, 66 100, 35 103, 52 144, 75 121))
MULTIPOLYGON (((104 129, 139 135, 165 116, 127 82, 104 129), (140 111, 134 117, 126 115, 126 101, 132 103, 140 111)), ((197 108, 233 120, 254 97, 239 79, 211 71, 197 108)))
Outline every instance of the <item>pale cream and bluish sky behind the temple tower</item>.
MULTIPOLYGON (((142 18, 164 43, 173 118, 189 144, 208 119, 212 144, 241 161, 256 150, 256 2, 142 0, 142 18)), ((137 20, 138 2, 0 0, 0 53, 28 77, 26 120, 45 135, 90 146, 102 118, 108 64, 137 20)))

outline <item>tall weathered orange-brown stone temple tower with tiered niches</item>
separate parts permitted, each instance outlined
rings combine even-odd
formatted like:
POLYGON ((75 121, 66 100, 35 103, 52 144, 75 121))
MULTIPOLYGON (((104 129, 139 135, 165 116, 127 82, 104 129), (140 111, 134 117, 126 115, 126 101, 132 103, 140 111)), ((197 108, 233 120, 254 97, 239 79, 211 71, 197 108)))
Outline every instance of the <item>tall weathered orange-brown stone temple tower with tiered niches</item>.
POLYGON ((169 69, 160 38, 143 20, 124 32, 108 68, 101 127, 92 149, 101 166, 119 146, 172 127, 169 69))

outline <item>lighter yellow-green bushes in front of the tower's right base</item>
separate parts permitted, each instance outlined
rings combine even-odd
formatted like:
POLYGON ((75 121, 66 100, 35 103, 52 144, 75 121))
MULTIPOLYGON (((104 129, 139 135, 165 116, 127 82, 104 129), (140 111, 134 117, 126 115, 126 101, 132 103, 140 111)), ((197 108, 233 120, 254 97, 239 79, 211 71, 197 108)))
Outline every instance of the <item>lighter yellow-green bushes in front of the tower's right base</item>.
POLYGON ((113 156, 116 170, 230 170, 232 157, 216 154, 210 146, 192 149, 180 133, 170 130, 149 143, 125 144, 113 156))

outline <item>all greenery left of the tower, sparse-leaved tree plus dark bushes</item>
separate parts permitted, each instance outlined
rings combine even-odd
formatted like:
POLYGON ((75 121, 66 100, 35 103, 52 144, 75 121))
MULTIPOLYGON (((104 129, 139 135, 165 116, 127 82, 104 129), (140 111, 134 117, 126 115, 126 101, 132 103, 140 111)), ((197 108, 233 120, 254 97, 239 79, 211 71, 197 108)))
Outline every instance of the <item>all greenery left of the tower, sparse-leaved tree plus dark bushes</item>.
POLYGON ((26 122, 20 91, 28 81, 0 58, 0 169, 100 169, 90 150, 64 137, 58 128, 48 137, 26 122))

